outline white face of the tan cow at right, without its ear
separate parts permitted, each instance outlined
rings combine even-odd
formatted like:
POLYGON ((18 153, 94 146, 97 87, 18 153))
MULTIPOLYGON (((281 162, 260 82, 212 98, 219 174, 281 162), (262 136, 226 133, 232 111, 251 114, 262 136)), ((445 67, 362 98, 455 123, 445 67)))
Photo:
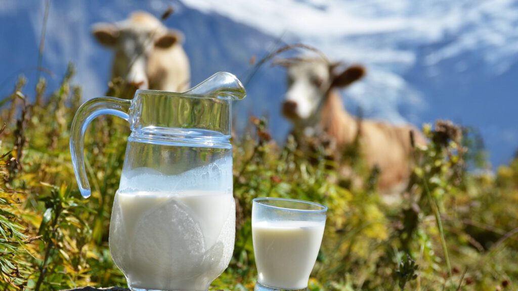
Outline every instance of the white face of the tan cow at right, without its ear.
POLYGON ((287 75, 285 101, 291 101, 296 106, 294 112, 284 113, 295 120, 314 118, 330 85, 328 64, 324 60, 300 61, 288 68, 287 75))

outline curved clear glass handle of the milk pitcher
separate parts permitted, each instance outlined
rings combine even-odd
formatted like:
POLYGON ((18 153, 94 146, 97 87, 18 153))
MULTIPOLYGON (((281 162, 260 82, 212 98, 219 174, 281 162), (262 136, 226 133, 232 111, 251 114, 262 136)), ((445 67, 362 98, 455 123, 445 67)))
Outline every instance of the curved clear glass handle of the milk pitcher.
POLYGON ((77 110, 70 128, 70 154, 79 191, 84 198, 91 194, 87 171, 84 169, 84 133, 90 122, 99 115, 110 114, 129 121, 131 104, 131 100, 98 97, 86 101, 77 110))

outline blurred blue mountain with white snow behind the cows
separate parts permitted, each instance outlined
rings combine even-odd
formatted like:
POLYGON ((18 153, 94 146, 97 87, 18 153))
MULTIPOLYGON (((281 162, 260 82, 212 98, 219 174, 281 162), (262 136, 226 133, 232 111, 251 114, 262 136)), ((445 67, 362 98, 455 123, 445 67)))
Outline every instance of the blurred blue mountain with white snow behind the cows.
MULTIPOLYGON (((87 96, 106 89, 108 51, 90 26, 133 10, 161 14, 171 2, 53 0, 44 66, 59 82, 68 61, 87 96)), ((395 123, 452 119, 480 129, 491 161, 509 161, 518 148, 518 2, 511 0, 184 0, 166 21, 186 36, 193 83, 218 70, 245 77, 252 55, 276 39, 304 42, 331 59, 365 64, 368 77, 343 92, 351 112, 395 123)), ((0 93, 22 71, 34 79, 44 2, 0 3, 0 93)), ((289 129, 279 115, 283 71, 262 68, 248 86, 239 117, 268 114, 275 136, 289 129)))

